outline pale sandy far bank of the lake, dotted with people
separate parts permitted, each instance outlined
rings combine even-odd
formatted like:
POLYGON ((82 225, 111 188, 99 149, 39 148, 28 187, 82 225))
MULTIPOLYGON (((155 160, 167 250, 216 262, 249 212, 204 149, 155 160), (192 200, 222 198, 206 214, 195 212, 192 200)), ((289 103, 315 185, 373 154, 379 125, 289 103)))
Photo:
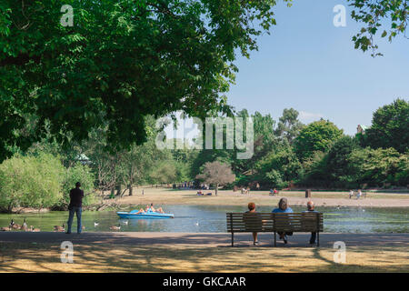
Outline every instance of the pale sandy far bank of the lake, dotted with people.
MULTIPOLYGON (((138 192, 142 191, 140 188, 138 192)), ((145 189, 145 195, 124 196, 113 202, 120 206, 155 205, 191 205, 191 206, 247 206, 254 202, 256 206, 277 206, 282 197, 288 199, 290 206, 306 206, 310 200, 315 206, 356 206, 356 207, 409 207, 409 195, 406 194, 367 194, 366 198, 349 199, 343 192, 313 192, 311 198, 305 198, 304 192, 280 192, 279 196, 269 196, 265 191, 253 191, 251 194, 233 193, 220 190, 218 196, 196 196, 196 190, 156 190, 145 189)), ((136 191, 135 191, 136 193, 136 191)), ((109 204, 109 201, 106 201, 109 204)))

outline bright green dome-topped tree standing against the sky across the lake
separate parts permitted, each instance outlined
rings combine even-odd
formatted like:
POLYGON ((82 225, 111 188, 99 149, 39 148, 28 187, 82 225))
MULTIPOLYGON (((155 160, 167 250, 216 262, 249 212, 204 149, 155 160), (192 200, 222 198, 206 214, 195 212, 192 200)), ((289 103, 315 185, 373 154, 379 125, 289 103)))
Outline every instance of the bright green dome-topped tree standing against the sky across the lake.
POLYGON ((330 121, 321 119, 305 126, 294 140, 294 150, 300 159, 314 155, 315 151, 325 152, 343 135, 330 121))

